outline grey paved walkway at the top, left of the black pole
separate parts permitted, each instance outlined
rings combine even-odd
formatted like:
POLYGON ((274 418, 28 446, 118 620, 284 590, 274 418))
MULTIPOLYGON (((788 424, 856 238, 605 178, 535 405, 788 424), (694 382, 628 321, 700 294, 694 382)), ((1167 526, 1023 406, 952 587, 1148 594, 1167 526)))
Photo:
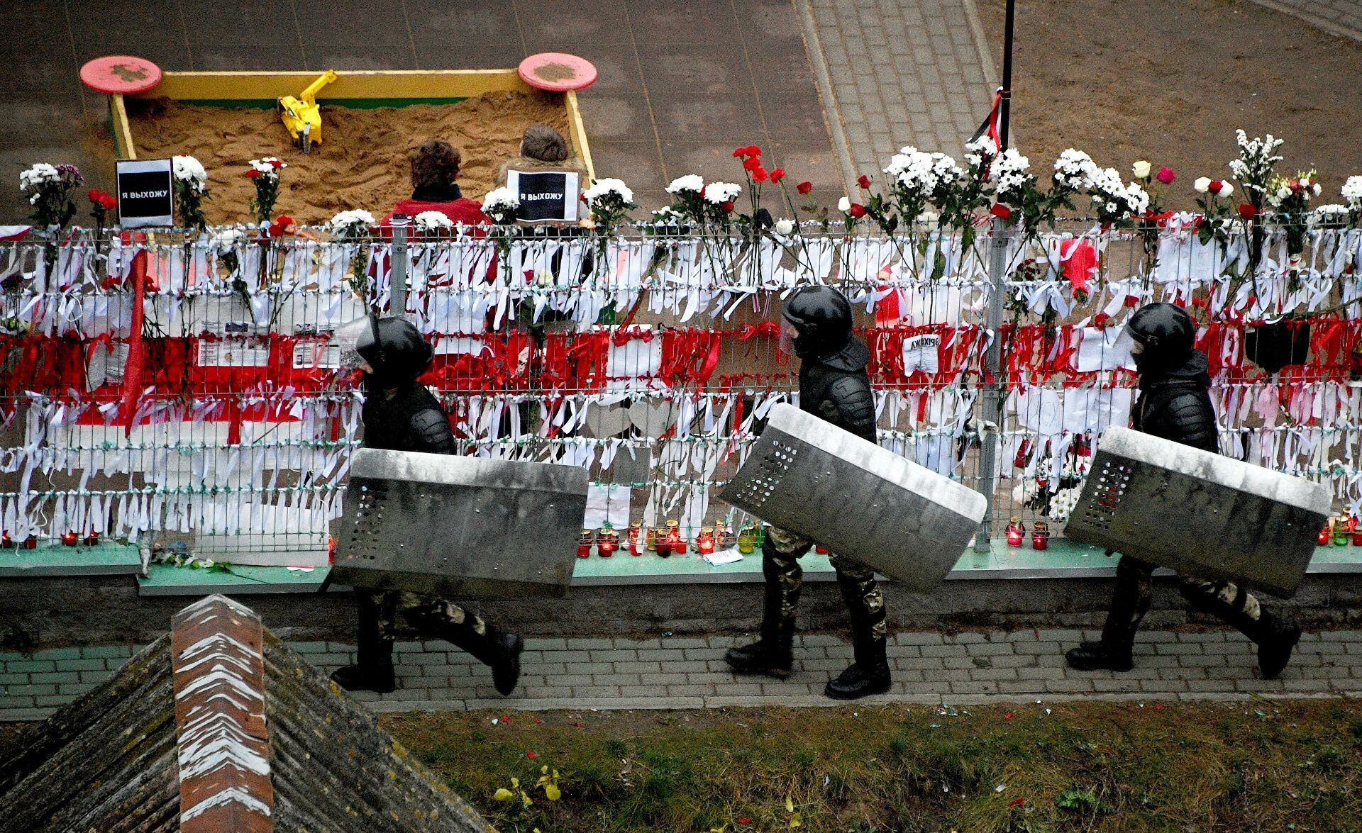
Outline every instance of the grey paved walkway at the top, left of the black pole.
POLYGON ((997 83, 972 0, 795 7, 850 193, 857 174, 880 173, 904 144, 964 152, 997 83))

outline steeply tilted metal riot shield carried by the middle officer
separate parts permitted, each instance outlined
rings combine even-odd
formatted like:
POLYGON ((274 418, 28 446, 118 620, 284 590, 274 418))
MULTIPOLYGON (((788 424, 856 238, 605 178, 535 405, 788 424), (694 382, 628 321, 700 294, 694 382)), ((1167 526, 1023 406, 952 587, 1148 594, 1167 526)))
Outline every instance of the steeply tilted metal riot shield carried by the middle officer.
POLYGON ((945 578, 987 510, 978 491, 787 404, 719 497, 914 591, 945 578))

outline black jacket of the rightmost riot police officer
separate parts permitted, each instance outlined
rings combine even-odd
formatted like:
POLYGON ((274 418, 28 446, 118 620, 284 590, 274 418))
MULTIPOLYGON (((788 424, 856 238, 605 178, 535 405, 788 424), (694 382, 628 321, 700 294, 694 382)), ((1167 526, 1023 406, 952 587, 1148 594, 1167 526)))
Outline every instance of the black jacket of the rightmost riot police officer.
POLYGON ((1188 361, 1174 370, 1150 370, 1140 374, 1140 399, 1135 403, 1130 427, 1165 440, 1209 452, 1220 451, 1211 404, 1208 361, 1193 350, 1188 361))

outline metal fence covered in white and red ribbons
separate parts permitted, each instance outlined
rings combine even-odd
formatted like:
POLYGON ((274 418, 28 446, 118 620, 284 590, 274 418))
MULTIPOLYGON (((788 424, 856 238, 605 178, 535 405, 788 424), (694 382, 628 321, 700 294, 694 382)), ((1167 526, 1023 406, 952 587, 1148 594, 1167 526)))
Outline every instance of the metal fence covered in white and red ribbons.
POLYGON ((1012 517, 1062 525, 1136 395, 1124 320, 1155 299, 1199 320, 1223 451, 1362 513, 1359 230, 658 231, 0 244, 0 531, 323 562, 362 402, 328 335, 398 309, 462 453, 587 467, 591 525, 737 528, 715 491, 797 400, 774 323, 806 283, 857 308, 881 445, 990 497, 981 544, 1012 517))

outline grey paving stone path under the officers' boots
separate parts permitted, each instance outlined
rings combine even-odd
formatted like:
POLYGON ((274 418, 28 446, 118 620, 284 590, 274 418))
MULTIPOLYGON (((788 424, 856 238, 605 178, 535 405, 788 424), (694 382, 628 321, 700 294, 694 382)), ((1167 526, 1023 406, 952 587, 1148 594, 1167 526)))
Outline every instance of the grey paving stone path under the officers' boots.
MULTIPOLYGON (((1125 674, 1072 671, 1062 652, 1096 632, 1019 630, 891 636, 893 690, 866 702, 978 704, 1022 700, 1362 697, 1362 632, 1309 633, 1282 679, 1258 679, 1253 647, 1233 632, 1145 632, 1125 674)), ((399 642, 398 690, 357 691, 377 712, 497 709, 699 709, 834 705, 824 683, 851 662, 840 637, 806 634, 786 681, 734 676, 723 652, 748 637, 526 640, 520 687, 500 697, 492 675, 437 640, 399 642)), ((320 670, 353 662, 339 642, 290 642, 320 670)), ((0 720, 33 720, 89 691, 132 656, 133 647, 0 653, 0 720)))

